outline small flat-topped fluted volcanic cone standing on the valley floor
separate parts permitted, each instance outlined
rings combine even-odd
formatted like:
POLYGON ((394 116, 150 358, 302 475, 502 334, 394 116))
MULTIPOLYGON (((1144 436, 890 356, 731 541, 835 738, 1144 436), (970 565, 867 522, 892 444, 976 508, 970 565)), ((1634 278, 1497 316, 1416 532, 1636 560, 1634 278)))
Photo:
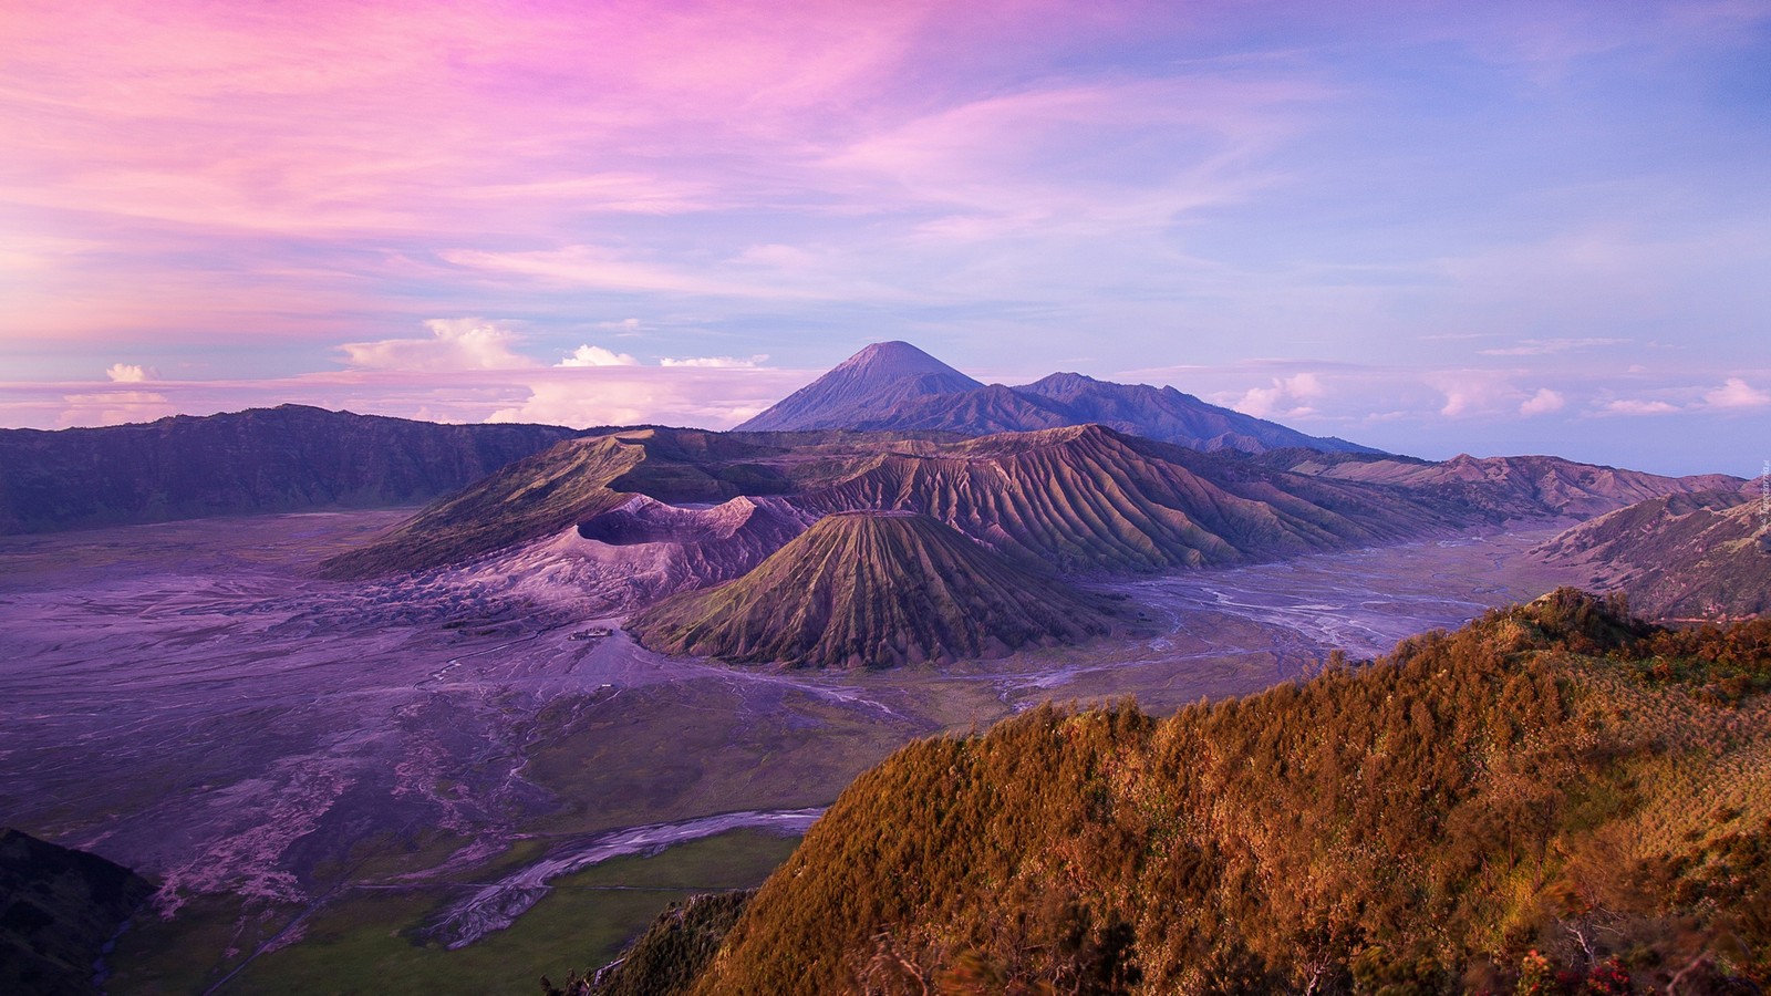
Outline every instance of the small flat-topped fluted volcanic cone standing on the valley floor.
POLYGON ((870 510, 825 516, 749 574, 673 595, 629 629, 669 654, 852 668, 1073 643, 1109 620, 946 523, 870 510))

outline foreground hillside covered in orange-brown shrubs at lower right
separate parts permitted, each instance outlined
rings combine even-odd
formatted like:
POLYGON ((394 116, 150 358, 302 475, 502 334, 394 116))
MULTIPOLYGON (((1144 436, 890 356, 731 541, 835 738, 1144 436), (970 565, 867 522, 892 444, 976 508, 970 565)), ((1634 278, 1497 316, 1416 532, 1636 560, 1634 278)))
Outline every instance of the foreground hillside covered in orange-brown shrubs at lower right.
POLYGON ((604 991, 1759 991, 1767 689, 1771 622, 1562 590, 1162 721, 1043 707, 898 751, 715 953, 604 991))

